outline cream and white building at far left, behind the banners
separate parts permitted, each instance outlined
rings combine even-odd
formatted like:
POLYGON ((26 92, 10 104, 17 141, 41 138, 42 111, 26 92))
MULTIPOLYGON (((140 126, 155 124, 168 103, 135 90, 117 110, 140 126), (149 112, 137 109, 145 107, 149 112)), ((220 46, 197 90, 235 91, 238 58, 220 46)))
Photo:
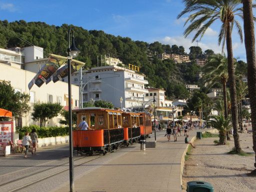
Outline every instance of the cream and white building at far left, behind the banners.
MULTIPOLYGON (((15 120, 16 126, 38 124, 38 122, 35 122, 31 116, 33 103, 36 101, 60 102, 64 108, 68 108, 68 88, 67 83, 65 82, 49 82, 47 85, 43 84, 40 88, 34 85, 32 89, 29 91, 28 83, 35 76, 39 67, 38 65, 36 65, 35 61, 33 64, 36 66, 33 66, 32 64, 29 65, 29 69, 34 72, 24 70, 22 68, 26 68, 23 65, 25 60, 31 61, 33 58, 36 59, 39 58, 40 55, 42 56, 42 52, 37 52, 37 50, 38 49, 34 46, 24 48, 15 47, 10 50, 0 48, 0 81, 10 81, 10 84, 15 89, 15 91, 25 92, 30 95, 31 110, 25 116, 17 118, 15 120), (32 51, 32 49, 36 50, 32 51), (26 58, 26 56, 28 57, 26 58)), ((72 85, 72 107, 78 107, 78 104, 79 87, 76 85, 72 85)), ((54 117, 49 120, 48 125, 60 125, 60 119, 63 119, 63 117, 60 115, 54 117)))

